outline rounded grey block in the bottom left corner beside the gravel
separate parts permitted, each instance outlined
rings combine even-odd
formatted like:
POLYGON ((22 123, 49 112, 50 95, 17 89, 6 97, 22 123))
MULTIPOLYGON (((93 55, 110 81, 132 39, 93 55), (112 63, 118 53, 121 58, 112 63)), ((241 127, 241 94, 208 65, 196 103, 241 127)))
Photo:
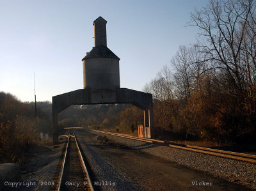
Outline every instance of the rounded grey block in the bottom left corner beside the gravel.
POLYGON ((0 190, 4 187, 4 181, 19 181, 20 167, 15 163, 0 164, 0 190))

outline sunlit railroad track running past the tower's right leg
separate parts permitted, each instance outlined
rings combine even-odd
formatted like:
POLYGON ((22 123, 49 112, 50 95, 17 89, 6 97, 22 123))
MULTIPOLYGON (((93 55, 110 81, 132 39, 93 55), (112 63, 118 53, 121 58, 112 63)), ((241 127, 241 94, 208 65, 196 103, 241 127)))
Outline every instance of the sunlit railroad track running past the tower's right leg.
POLYGON ((133 139, 136 141, 143 141, 143 142, 149 142, 149 143, 154 143, 154 144, 159 144, 162 146, 168 146, 171 148, 177 148, 177 149, 184 149, 187 151, 193 151, 197 153, 204 153, 207 155, 214 155, 218 157, 223 157, 223 158, 231 158, 234 160, 241 160, 244 162, 251 162, 253 164, 256 164, 256 155, 248 155, 244 153, 236 153, 236 152, 231 152, 231 151, 224 151, 224 150, 219 150, 219 149, 211 149, 211 148, 204 148, 200 146, 192 146, 192 145, 186 145, 186 144, 170 144, 164 141, 159 141, 156 139, 147 139, 147 138, 138 138, 134 137, 131 135, 125 135, 125 134, 116 134, 116 133, 111 133, 111 132, 104 132, 100 130, 92 130, 95 132, 100 132, 102 134, 108 134, 108 135, 115 135, 118 137, 124 137, 126 139, 133 139))

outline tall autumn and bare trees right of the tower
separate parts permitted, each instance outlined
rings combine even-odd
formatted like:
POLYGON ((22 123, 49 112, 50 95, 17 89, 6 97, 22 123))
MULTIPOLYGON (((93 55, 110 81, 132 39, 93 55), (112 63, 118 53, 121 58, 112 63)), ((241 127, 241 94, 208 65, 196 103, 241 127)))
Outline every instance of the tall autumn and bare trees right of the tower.
POLYGON ((154 125, 186 139, 255 141, 256 15, 254 0, 209 1, 191 13, 200 33, 146 84, 154 125))

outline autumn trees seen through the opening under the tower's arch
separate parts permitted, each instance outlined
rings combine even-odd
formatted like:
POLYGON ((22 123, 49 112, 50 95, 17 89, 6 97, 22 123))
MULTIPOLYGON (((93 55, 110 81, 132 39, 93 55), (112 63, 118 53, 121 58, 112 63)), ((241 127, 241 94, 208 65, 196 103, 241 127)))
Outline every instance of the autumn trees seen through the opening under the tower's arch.
POLYGON ((143 120, 143 111, 131 104, 74 105, 59 114, 58 126, 134 133, 143 120))

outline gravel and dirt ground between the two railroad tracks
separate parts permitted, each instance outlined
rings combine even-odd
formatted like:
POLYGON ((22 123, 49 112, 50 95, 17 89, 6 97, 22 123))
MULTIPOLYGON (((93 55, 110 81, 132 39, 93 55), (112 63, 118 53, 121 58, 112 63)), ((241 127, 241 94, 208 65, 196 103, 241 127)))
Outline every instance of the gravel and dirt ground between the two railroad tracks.
MULTIPOLYGON (((86 129, 75 129, 75 132, 90 165, 88 171, 93 173, 96 190, 252 190, 254 187, 246 188, 218 178, 218 174, 237 165, 232 160, 86 129)), ((239 165, 245 165, 244 174, 241 172, 239 176, 251 178, 242 183, 246 185, 251 181, 255 185, 255 165, 239 165)), ((240 171, 241 167, 234 169, 240 171)), ((230 169, 229 174, 234 174, 234 169, 230 169)), ((237 180, 234 175, 232 178, 237 180)))

